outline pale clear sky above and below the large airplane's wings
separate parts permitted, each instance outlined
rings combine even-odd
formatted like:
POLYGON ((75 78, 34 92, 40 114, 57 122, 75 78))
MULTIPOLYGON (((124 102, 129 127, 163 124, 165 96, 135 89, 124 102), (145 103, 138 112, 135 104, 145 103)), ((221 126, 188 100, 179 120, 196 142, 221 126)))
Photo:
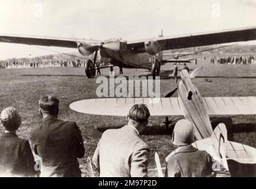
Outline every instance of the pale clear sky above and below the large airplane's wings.
MULTIPOLYGON (((0 35, 140 40, 157 37, 161 29, 172 36, 252 27, 255 18, 255 0, 0 0, 0 35)), ((46 54, 54 53, 0 43, 0 60, 46 54)))

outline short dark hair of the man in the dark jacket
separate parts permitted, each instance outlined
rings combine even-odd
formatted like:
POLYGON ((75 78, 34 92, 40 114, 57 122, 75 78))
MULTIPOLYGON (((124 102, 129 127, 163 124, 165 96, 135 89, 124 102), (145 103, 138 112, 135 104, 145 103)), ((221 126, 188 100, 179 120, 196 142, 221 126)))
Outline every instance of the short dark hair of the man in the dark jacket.
POLYGON ((55 115, 57 113, 57 109, 59 108, 59 99, 50 95, 41 96, 39 99, 39 106, 44 112, 55 115))

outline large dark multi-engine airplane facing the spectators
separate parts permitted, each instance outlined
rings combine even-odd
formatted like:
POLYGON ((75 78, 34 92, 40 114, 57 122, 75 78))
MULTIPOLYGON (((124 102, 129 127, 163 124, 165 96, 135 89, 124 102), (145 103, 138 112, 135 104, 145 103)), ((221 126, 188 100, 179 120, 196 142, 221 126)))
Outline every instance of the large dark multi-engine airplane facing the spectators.
POLYGON ((79 53, 84 56, 95 53, 94 59, 88 60, 85 65, 85 74, 89 78, 95 76, 95 68, 105 68, 99 67, 101 62, 96 61, 98 51, 105 63, 128 69, 151 70, 152 76, 156 76, 160 66, 168 63, 168 60, 163 59, 162 51, 250 40, 256 40, 256 27, 174 37, 159 35, 157 38, 136 41, 0 35, 0 42, 3 43, 78 48, 79 53))

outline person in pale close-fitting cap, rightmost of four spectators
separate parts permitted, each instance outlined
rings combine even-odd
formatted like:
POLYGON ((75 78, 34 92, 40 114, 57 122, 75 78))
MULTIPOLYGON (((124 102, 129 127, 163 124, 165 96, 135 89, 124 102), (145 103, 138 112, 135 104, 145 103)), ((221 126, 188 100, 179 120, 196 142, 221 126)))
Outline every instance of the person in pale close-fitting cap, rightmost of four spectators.
POLYGON ((191 145, 194 141, 193 124, 186 119, 178 120, 172 132, 172 144, 178 148, 165 159, 165 177, 229 177, 230 173, 223 165, 206 151, 200 151, 191 145))

